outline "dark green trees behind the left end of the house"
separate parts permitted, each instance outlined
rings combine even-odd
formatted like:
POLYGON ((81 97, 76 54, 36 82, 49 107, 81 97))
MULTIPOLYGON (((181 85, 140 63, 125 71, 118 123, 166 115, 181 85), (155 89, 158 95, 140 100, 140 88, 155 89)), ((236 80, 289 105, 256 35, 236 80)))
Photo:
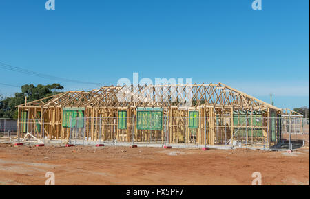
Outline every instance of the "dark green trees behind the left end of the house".
POLYGON ((62 90, 61 84, 42 85, 38 84, 25 84, 21 86, 21 93, 14 93, 13 97, 4 97, 0 95, 0 118, 17 118, 17 108, 15 106, 25 103, 25 97, 27 96, 27 102, 39 100, 43 97, 49 97, 56 95, 59 90, 62 90))

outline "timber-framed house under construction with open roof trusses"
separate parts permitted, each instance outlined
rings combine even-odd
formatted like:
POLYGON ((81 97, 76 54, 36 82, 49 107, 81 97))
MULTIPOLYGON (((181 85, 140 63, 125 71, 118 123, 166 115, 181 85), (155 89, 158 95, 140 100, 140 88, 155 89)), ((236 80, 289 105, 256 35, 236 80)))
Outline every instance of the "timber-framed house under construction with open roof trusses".
POLYGON ((103 86, 18 107, 19 137, 272 148, 283 110, 225 84, 103 86))

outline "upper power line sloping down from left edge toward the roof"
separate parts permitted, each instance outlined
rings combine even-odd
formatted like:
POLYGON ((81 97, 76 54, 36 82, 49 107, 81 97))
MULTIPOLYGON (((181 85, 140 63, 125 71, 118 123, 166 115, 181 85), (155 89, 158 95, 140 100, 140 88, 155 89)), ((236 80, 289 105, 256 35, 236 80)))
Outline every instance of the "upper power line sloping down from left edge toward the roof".
POLYGON ((84 81, 79 81, 79 80, 71 80, 71 79, 68 79, 68 78, 60 78, 60 77, 56 77, 56 76, 53 76, 53 75, 45 75, 43 73, 37 73, 35 71, 30 71, 28 69, 23 69, 21 67, 14 67, 12 65, 8 65, 8 64, 5 64, 3 62, 0 62, 0 68, 7 69, 7 70, 10 70, 10 71, 15 71, 15 72, 26 74, 26 75, 36 76, 36 77, 39 77, 39 78, 46 78, 46 79, 50 79, 50 80, 56 80, 56 81, 62 81, 62 82, 71 82, 71 83, 78 83, 78 84, 101 85, 99 83, 94 83, 94 82, 84 82, 84 81))

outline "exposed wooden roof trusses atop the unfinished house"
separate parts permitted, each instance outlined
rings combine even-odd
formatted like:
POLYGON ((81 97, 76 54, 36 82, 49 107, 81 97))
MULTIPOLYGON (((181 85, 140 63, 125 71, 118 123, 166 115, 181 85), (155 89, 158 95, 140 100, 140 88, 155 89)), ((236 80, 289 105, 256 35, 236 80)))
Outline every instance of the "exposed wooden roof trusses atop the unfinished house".
POLYGON ((179 107, 190 102, 194 107, 239 107, 253 110, 270 107, 281 110, 222 83, 103 86, 89 92, 67 91, 43 102, 46 99, 48 97, 19 106, 179 107))

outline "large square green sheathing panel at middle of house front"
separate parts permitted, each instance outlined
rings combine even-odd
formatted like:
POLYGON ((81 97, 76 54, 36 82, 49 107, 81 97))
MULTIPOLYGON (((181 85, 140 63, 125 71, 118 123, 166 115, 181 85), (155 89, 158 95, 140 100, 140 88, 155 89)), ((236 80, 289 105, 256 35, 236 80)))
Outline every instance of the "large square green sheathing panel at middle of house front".
POLYGON ((138 130, 162 130, 163 111, 161 108, 137 108, 136 128, 138 130))

